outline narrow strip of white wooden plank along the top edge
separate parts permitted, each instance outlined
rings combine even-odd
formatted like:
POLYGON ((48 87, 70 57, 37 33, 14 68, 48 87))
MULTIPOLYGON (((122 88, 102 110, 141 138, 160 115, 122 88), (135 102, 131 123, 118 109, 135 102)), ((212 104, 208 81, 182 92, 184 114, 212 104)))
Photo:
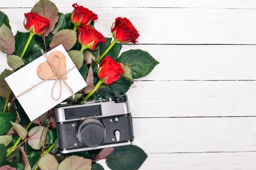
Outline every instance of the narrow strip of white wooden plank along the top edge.
MULTIPOLYGON (((2 3, 1 8, 32 7, 38 0, 9 0, 2 3)), ((52 0, 58 7, 70 7, 74 1, 52 0)), ((256 8, 254 0, 76 0, 76 3, 91 7, 164 7, 164 8, 256 8)))

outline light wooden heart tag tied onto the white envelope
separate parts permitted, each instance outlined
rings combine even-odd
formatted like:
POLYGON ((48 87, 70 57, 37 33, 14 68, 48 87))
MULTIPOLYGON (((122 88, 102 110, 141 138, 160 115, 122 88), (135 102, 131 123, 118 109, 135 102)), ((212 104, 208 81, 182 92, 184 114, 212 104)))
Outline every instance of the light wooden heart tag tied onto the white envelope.
MULTIPOLYGON (((52 61, 52 63, 55 65, 55 67, 58 69, 59 68, 59 59, 61 60, 61 65, 60 65, 60 69, 59 72, 61 74, 64 74, 67 72, 67 66, 66 66, 66 57, 65 54, 63 54, 61 51, 52 51, 49 56, 48 59, 50 61, 52 61), (55 57, 54 57, 55 56, 55 57), (58 57, 56 57, 58 56, 58 57), (53 61, 52 61, 52 57, 53 61)), ((43 62, 40 65, 38 65, 37 68, 37 74, 41 79, 48 79, 49 77, 52 77, 55 75, 55 73, 53 72, 49 62, 43 62)), ((63 75, 64 79, 67 79, 67 73, 63 75)), ((52 77, 51 79, 57 79, 57 76, 52 77)))

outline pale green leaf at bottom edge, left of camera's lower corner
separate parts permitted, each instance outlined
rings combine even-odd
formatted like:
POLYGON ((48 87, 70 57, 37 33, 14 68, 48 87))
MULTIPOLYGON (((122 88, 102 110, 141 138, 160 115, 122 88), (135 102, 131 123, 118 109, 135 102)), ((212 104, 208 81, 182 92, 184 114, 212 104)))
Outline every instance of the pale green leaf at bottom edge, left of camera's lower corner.
POLYGON ((38 161, 38 167, 41 170, 58 170, 58 161, 54 156, 47 153, 38 161))

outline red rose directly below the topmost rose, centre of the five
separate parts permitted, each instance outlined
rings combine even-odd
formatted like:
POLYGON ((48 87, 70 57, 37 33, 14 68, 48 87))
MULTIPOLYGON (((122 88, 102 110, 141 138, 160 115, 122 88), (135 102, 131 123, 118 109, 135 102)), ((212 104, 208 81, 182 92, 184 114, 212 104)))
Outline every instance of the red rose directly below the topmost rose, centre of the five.
POLYGON ((104 36, 96 29, 90 26, 84 25, 82 28, 78 28, 78 41, 79 43, 94 50, 99 42, 106 43, 104 36))

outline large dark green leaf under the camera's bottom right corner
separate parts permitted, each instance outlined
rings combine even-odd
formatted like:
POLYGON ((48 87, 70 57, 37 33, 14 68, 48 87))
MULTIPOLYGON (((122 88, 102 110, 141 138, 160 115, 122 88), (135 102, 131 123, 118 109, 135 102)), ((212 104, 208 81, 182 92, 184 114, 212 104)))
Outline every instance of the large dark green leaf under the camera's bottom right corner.
POLYGON ((140 147, 125 145, 116 147, 106 163, 111 170, 138 170, 147 157, 140 147))

